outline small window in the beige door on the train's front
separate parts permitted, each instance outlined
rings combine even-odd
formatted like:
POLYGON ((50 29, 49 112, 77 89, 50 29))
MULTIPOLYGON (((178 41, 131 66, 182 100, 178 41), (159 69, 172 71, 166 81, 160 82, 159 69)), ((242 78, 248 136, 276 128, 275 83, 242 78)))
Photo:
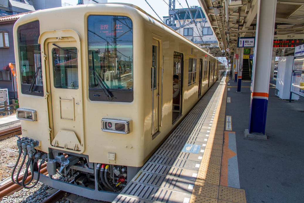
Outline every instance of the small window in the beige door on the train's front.
POLYGON ((77 48, 53 48, 52 56, 54 87, 78 89, 77 48))

